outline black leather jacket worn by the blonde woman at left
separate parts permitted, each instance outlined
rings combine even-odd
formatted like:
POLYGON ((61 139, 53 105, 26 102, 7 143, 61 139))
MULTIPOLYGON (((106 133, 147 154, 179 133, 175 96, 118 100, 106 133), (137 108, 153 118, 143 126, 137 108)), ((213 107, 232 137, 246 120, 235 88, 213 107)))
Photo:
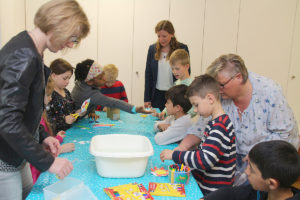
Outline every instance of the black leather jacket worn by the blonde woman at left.
POLYGON ((44 105, 43 67, 26 31, 0 50, 0 159, 15 167, 25 159, 40 171, 54 162, 38 141, 44 105))

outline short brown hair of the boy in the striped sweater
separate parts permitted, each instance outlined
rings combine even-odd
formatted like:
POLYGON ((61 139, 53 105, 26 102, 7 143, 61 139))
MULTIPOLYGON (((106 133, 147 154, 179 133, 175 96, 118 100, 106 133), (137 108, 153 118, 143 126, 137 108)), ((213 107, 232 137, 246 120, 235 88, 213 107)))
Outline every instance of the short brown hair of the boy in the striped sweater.
POLYGON ((220 99, 219 83, 210 75, 203 74, 195 77, 186 92, 186 96, 200 96, 201 98, 205 98, 208 93, 213 94, 217 100, 220 99))

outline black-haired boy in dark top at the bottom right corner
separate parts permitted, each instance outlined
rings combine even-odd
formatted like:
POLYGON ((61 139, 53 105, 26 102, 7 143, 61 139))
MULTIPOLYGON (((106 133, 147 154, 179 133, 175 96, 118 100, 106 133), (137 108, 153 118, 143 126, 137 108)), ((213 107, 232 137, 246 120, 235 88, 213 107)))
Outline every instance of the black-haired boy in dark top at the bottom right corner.
POLYGON ((300 156, 282 140, 261 142, 248 155, 246 169, 250 185, 222 188, 205 200, 299 200, 291 185, 300 176, 300 156))

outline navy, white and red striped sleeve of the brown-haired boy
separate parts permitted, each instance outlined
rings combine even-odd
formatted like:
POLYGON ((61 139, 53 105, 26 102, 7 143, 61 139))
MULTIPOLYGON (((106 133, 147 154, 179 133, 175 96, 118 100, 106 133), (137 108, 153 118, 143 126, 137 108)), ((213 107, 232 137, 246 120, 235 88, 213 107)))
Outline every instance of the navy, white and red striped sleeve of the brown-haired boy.
MULTIPOLYGON (((196 151, 175 151, 172 159, 175 163, 190 166, 191 168, 209 170, 220 161, 232 143, 228 132, 233 131, 232 123, 229 127, 215 123, 202 147, 196 151)), ((204 133, 206 134, 206 133, 204 133)))

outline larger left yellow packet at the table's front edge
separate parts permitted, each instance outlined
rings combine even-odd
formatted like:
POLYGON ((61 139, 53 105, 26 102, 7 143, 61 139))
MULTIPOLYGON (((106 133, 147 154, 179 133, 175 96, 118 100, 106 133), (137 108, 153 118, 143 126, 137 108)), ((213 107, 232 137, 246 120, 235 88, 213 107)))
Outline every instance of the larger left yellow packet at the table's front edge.
POLYGON ((143 184, 138 183, 104 188, 104 192, 113 200, 153 200, 153 197, 143 184))

